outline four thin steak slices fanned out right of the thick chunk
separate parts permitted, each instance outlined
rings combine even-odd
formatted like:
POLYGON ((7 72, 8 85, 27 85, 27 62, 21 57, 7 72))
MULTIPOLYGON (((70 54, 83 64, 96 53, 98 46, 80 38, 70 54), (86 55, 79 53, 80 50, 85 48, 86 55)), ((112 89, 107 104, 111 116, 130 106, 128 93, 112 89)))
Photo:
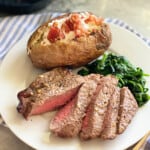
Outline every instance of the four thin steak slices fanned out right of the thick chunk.
POLYGON ((83 140, 114 139, 131 122, 137 102, 127 87, 117 86, 115 76, 84 77, 77 95, 51 119, 50 131, 60 137, 80 135, 83 140))

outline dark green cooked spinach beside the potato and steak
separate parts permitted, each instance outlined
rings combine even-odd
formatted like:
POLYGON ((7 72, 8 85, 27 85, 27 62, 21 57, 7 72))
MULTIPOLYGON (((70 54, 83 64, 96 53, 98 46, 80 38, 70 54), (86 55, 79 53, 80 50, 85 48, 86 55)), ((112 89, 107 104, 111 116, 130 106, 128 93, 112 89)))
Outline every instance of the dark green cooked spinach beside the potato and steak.
POLYGON ((125 57, 113 53, 104 54, 101 59, 87 64, 78 74, 112 74, 119 80, 119 87, 127 86, 133 93, 138 106, 143 106, 149 99, 145 74, 139 67, 134 67, 125 57))

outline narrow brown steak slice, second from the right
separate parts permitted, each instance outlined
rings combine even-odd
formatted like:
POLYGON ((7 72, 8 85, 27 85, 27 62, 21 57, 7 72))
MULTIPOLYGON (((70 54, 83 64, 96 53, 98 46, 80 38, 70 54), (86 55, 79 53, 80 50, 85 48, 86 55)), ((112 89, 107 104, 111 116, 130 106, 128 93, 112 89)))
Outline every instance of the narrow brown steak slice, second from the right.
POLYGON ((112 94, 104 120, 104 129, 101 133, 102 139, 114 139, 117 136, 117 119, 120 105, 120 88, 116 87, 112 94))

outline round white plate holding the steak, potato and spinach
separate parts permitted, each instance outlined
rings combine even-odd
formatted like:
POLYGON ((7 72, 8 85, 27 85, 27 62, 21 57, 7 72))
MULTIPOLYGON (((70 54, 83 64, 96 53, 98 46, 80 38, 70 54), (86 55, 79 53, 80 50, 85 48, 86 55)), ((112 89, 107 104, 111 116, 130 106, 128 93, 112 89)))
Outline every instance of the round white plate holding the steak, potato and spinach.
MULTIPOLYGON (((113 42, 111 49, 126 56, 134 65, 150 73, 148 48, 142 40, 125 29, 110 25, 113 42)), ((17 93, 24 89, 41 71, 34 68, 26 54, 25 36, 5 57, 0 69, 0 111, 9 128, 22 141, 40 150, 122 150, 138 141, 150 129, 150 102, 139 109, 127 130, 112 141, 100 139, 81 142, 61 139, 49 132, 50 113, 31 117, 26 121, 16 111, 17 93)), ((148 82, 150 88, 150 83, 148 82)))

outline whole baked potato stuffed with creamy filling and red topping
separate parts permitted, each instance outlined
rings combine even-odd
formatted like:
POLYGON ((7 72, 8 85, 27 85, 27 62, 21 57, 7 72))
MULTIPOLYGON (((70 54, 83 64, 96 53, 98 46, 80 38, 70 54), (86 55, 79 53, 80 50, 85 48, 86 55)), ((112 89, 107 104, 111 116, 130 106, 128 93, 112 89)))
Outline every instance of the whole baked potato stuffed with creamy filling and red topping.
POLYGON ((102 55, 110 44, 110 28, 102 18, 74 12, 41 25, 31 35, 27 52, 39 68, 79 67, 102 55))

